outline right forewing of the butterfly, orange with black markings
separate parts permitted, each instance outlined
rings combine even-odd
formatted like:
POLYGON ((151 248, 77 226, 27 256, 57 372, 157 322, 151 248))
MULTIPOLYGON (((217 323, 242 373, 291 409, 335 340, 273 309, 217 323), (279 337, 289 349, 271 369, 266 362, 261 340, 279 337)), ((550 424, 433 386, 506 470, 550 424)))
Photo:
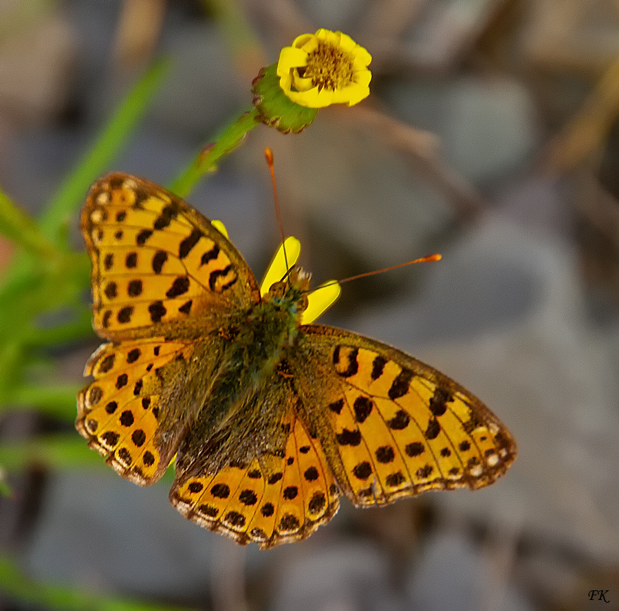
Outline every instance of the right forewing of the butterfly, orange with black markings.
POLYGON ((477 489, 514 460, 506 427, 448 377, 354 333, 321 325, 301 330, 298 358, 290 361, 298 393, 310 419, 322 423, 327 458, 354 504, 477 489), (308 362, 318 370, 308 372, 308 362))

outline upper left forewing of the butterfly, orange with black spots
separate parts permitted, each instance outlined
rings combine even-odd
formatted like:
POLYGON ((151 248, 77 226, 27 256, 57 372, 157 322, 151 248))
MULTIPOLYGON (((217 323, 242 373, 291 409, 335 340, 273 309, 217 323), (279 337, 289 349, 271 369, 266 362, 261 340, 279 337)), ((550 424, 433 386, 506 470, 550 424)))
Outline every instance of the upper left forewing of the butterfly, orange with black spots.
MULTIPOLYGON (((89 192, 81 229, 102 337, 215 317, 259 299, 237 249, 202 214, 149 181, 110 174, 89 192)), ((213 326, 216 322, 213 322, 213 326)))

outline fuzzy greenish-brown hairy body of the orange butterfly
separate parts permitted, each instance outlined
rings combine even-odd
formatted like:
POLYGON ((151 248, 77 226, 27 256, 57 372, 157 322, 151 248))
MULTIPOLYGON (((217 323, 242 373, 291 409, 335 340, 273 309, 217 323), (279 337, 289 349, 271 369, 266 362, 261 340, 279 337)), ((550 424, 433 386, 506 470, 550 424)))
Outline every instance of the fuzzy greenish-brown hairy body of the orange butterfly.
POLYGON ((213 469, 283 452, 287 431, 281 420, 290 410, 292 383, 286 357, 294 351, 304 304, 299 307, 294 297, 269 293, 242 320, 230 320, 217 339, 195 347, 192 360, 202 375, 186 377, 184 393, 189 390, 193 406, 182 417, 192 434, 187 447, 180 447, 180 460, 200 454, 200 462, 213 469), (201 452, 194 452, 198 446, 201 452))

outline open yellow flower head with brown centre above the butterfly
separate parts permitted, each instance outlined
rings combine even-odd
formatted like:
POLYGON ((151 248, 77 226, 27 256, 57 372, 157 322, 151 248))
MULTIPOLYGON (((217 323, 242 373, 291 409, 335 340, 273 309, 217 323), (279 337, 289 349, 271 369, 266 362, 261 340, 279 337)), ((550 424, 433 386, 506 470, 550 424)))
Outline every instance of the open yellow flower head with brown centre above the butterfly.
POLYGON ((369 96, 371 60, 350 36, 321 28, 281 49, 277 76, 285 95, 300 106, 352 106, 369 96))

